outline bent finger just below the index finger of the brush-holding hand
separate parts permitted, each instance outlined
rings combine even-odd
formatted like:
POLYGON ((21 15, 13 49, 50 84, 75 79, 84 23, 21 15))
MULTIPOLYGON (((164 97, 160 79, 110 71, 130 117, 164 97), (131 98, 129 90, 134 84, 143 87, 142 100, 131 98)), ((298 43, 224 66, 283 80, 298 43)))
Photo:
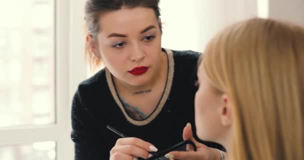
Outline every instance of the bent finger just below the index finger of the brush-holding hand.
POLYGON ((132 157, 149 157, 149 152, 135 145, 117 145, 110 150, 110 154, 123 153, 132 157))

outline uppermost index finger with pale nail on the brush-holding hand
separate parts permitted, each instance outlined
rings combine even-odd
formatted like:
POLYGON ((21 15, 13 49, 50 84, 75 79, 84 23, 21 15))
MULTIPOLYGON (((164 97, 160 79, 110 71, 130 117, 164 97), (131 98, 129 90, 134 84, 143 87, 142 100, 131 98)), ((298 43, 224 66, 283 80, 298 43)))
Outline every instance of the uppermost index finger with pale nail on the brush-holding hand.
POLYGON ((136 137, 119 138, 115 145, 135 145, 146 151, 157 151, 158 149, 151 143, 136 137))

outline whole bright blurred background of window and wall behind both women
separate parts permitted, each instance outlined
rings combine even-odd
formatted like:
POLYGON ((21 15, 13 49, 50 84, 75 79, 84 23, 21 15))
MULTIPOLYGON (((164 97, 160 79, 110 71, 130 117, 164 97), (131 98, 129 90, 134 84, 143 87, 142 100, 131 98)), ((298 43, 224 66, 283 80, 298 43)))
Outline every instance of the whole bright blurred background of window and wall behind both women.
MULTIPOLYGON (((84 63, 85 0, 0 0, 0 159, 73 159, 71 98, 84 63)), ((162 47, 203 52, 252 16, 304 26, 304 0, 160 0, 162 47)))

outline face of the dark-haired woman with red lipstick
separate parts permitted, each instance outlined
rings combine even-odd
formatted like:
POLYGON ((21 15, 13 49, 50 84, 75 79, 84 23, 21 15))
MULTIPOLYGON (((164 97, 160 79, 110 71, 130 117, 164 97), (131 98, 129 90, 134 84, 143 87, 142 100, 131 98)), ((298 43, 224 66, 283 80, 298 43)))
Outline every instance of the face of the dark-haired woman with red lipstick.
POLYGON ((153 9, 122 8, 102 13, 99 28, 97 49, 104 65, 116 78, 136 86, 157 75, 164 54, 161 53, 161 33, 153 9), (130 72, 141 66, 147 70, 130 72))

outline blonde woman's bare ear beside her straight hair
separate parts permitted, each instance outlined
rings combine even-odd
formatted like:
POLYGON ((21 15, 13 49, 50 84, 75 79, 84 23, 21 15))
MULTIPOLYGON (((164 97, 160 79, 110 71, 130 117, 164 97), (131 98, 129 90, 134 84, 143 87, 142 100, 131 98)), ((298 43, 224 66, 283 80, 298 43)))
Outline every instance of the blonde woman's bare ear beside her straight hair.
POLYGON ((222 106, 220 108, 220 120, 223 126, 232 124, 232 106, 231 99, 227 94, 221 95, 222 106))

